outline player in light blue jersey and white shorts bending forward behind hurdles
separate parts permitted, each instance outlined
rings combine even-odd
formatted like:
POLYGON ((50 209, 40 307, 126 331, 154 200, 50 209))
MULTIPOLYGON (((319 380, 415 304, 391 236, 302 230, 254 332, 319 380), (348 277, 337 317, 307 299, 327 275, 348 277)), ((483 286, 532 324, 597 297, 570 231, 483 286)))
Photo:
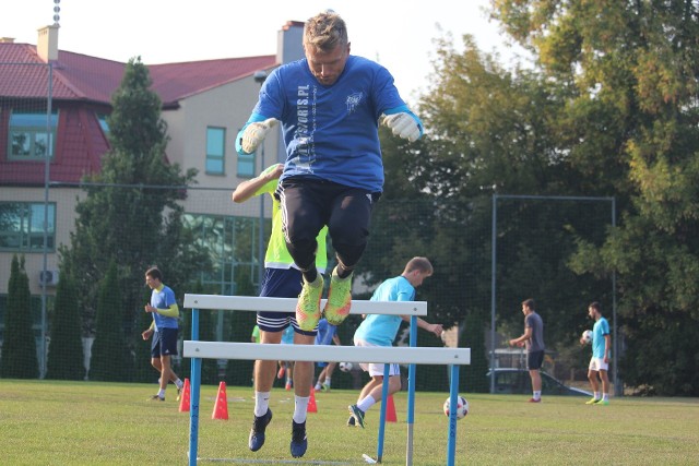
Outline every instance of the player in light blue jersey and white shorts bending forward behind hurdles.
MULTIPOLYGON (((411 259, 403 273, 383 282, 374 291, 372 301, 414 301, 415 288, 433 274, 433 265, 427 258, 411 259)), ((355 346, 392 346, 401 322, 410 322, 410 315, 369 314, 354 333, 355 346)), ((441 336, 441 324, 430 324, 417 318, 417 326, 441 336)), ((383 371, 381 363, 362 363, 362 369, 369 372, 371 380, 362 389, 356 405, 351 405, 347 426, 364 428, 364 415, 367 409, 381 399, 383 391, 383 371)), ((398 365, 389 368, 389 394, 401 390, 401 370, 398 365)))

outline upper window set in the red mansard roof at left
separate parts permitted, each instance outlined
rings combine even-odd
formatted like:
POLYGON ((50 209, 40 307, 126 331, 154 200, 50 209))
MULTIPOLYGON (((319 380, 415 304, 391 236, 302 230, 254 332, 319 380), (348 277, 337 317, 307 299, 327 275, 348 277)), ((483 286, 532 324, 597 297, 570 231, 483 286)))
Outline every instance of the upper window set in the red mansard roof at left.
POLYGON ((10 116, 10 159, 43 160, 46 156, 54 157, 58 113, 54 111, 49 118, 49 132, 46 131, 46 112, 12 112, 10 116))

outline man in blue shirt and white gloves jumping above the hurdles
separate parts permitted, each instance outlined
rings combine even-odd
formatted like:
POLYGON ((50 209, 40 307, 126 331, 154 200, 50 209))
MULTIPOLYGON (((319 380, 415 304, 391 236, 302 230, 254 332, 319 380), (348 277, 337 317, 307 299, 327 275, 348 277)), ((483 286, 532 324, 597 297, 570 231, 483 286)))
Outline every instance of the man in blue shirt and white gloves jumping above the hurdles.
POLYGON ((353 271, 383 189, 379 120, 411 142, 422 136, 423 124, 386 68, 350 55, 347 28, 337 14, 307 21, 304 51, 305 59, 268 76, 236 150, 251 154, 281 121, 286 162, 277 195, 286 244, 304 276, 296 320, 311 331, 321 316, 323 289, 315 265, 316 236, 327 225, 336 251, 323 314, 339 325, 350 314, 353 271))

